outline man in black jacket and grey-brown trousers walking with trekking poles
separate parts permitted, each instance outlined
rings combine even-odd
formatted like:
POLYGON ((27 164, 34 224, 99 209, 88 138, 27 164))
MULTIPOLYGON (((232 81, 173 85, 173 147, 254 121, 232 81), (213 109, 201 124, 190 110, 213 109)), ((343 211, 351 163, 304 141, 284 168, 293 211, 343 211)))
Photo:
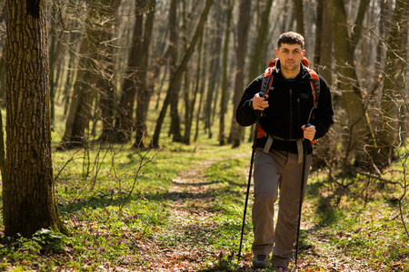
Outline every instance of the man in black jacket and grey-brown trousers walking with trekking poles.
MULTIPOLYGON (((334 111, 329 87, 321 76, 319 100, 314 109, 311 75, 301 63, 305 54, 301 34, 281 34, 275 54, 278 60, 270 91, 261 97, 259 92, 263 75, 254 79, 244 91, 236 119, 240 125, 249 126, 256 121, 257 112, 262 111, 260 127, 264 135, 262 133, 260 138, 257 137, 253 147, 253 266, 268 267, 269 255, 273 251, 274 269, 287 271, 293 257, 300 205, 303 172, 303 147, 300 143, 323 137, 334 123, 334 111), (311 126, 305 127, 308 121, 311 126), (278 189, 280 200, 274 232, 274 202, 278 189)), ((308 180, 312 152, 310 144, 305 161, 304 184, 308 180)))

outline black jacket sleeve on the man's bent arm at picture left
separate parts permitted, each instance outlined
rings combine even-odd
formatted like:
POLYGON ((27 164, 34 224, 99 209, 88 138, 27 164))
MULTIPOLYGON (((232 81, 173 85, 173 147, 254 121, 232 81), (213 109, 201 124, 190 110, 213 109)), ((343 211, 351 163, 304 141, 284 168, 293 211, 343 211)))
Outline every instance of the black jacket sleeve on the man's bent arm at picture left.
POLYGON ((241 126, 250 126, 254 124, 256 112, 250 107, 249 102, 254 97, 254 94, 260 92, 263 76, 258 76, 250 83, 243 93, 235 112, 235 120, 241 126))

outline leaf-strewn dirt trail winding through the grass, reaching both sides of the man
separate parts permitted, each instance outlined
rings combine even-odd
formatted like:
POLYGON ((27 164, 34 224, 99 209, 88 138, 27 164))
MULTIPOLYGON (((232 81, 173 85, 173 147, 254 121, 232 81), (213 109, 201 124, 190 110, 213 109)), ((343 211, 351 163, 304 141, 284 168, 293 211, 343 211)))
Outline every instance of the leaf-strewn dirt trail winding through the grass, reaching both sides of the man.
MULTIPOLYGON (((140 271, 200 271, 203 264, 217 259, 220 252, 206 249, 203 246, 206 238, 200 233, 213 227, 211 222, 208 222, 208 219, 214 216, 211 209, 213 197, 209 191, 211 184, 205 180, 204 170, 214 162, 202 161, 193 169, 181 171, 173 180, 169 195, 173 199, 170 220, 175 222, 174 233, 165 234, 171 237, 167 241, 154 238, 138 240, 136 247, 145 259, 145 268, 141 268, 140 271), (183 242, 179 240, 181 237, 183 242)), ((309 207, 307 200, 305 202, 305 209, 314 209, 309 207)), ((303 222, 302 228, 311 228, 308 225, 308 222, 303 222)), ((308 239, 318 246, 300 248, 304 257, 299 257, 300 267, 296 271, 323 271, 314 267, 324 267, 324 271, 374 271, 369 270, 364 262, 351 259, 335 248, 324 251, 327 238, 320 236, 319 233, 311 231, 308 239)), ((251 269, 251 261, 247 258, 241 260, 239 268, 234 271, 254 270, 251 269)))

